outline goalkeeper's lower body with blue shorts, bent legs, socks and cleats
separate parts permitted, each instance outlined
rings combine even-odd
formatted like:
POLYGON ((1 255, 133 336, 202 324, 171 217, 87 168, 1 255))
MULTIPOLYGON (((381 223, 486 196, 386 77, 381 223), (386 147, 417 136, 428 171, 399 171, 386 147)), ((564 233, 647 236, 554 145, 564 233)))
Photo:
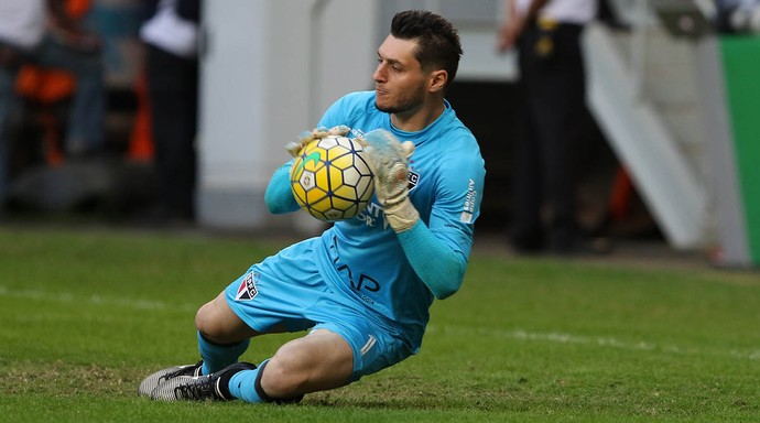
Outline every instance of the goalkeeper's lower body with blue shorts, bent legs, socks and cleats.
POLYGON ((345 386, 408 357, 412 351, 400 339, 326 295, 316 262, 303 260, 316 242, 317 238, 302 241, 251 267, 202 306, 195 323, 203 358, 213 373, 170 379, 151 398, 289 402, 345 386), (315 326, 315 322, 321 323, 315 326), (252 337, 310 328, 311 335, 286 343, 258 368, 236 362, 217 371, 236 361, 240 344, 252 337))

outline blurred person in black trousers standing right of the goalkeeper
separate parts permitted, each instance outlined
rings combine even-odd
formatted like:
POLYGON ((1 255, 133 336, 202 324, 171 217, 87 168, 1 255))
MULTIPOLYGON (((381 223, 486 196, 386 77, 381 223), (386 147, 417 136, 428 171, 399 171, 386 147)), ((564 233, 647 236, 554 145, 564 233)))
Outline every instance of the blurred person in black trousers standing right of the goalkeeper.
POLYGON ((509 13, 498 50, 518 50, 524 123, 515 145, 510 241, 519 252, 580 252, 594 248, 575 215, 573 158, 586 110, 580 34, 597 15, 597 0, 504 1, 509 13))

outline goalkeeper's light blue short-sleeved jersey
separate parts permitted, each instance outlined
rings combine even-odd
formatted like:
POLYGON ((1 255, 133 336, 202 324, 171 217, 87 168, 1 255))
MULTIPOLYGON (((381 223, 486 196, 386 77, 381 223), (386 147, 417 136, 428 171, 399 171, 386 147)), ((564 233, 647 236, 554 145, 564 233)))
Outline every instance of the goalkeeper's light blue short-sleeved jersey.
MULTIPOLYGON (((405 132, 374 106, 374 91, 349 94, 325 112, 321 127, 345 124, 349 137, 374 129, 414 142, 409 160, 409 196, 435 237, 467 260, 480 213, 485 163, 473 133, 450 105, 427 128, 405 132)), ((351 306, 380 315, 401 328, 416 352, 430 318, 433 294, 417 278, 377 200, 352 219, 337 221, 321 237, 316 260, 327 284, 351 306)), ((430 265, 436 265, 435 260, 430 265)))

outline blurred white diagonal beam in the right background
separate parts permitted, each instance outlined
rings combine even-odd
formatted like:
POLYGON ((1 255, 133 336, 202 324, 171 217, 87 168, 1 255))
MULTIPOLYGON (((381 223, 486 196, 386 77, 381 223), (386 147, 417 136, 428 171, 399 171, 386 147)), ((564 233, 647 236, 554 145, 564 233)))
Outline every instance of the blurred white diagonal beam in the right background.
POLYGON ((586 31, 589 108, 669 243, 678 249, 704 247, 707 187, 644 89, 648 31, 654 22, 650 2, 634 0, 628 7, 628 52, 606 26, 586 31))

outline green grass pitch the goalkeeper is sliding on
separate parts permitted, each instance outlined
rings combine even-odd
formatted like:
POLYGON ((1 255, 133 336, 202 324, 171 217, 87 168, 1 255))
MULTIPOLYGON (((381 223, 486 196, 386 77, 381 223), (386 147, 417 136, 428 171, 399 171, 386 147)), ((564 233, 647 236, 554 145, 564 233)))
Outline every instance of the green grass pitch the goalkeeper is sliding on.
POLYGON ((493 253, 434 305, 420 355, 358 383, 289 406, 138 398, 197 360, 197 306, 284 245, 0 228, 0 421, 760 421, 757 272, 493 253))

